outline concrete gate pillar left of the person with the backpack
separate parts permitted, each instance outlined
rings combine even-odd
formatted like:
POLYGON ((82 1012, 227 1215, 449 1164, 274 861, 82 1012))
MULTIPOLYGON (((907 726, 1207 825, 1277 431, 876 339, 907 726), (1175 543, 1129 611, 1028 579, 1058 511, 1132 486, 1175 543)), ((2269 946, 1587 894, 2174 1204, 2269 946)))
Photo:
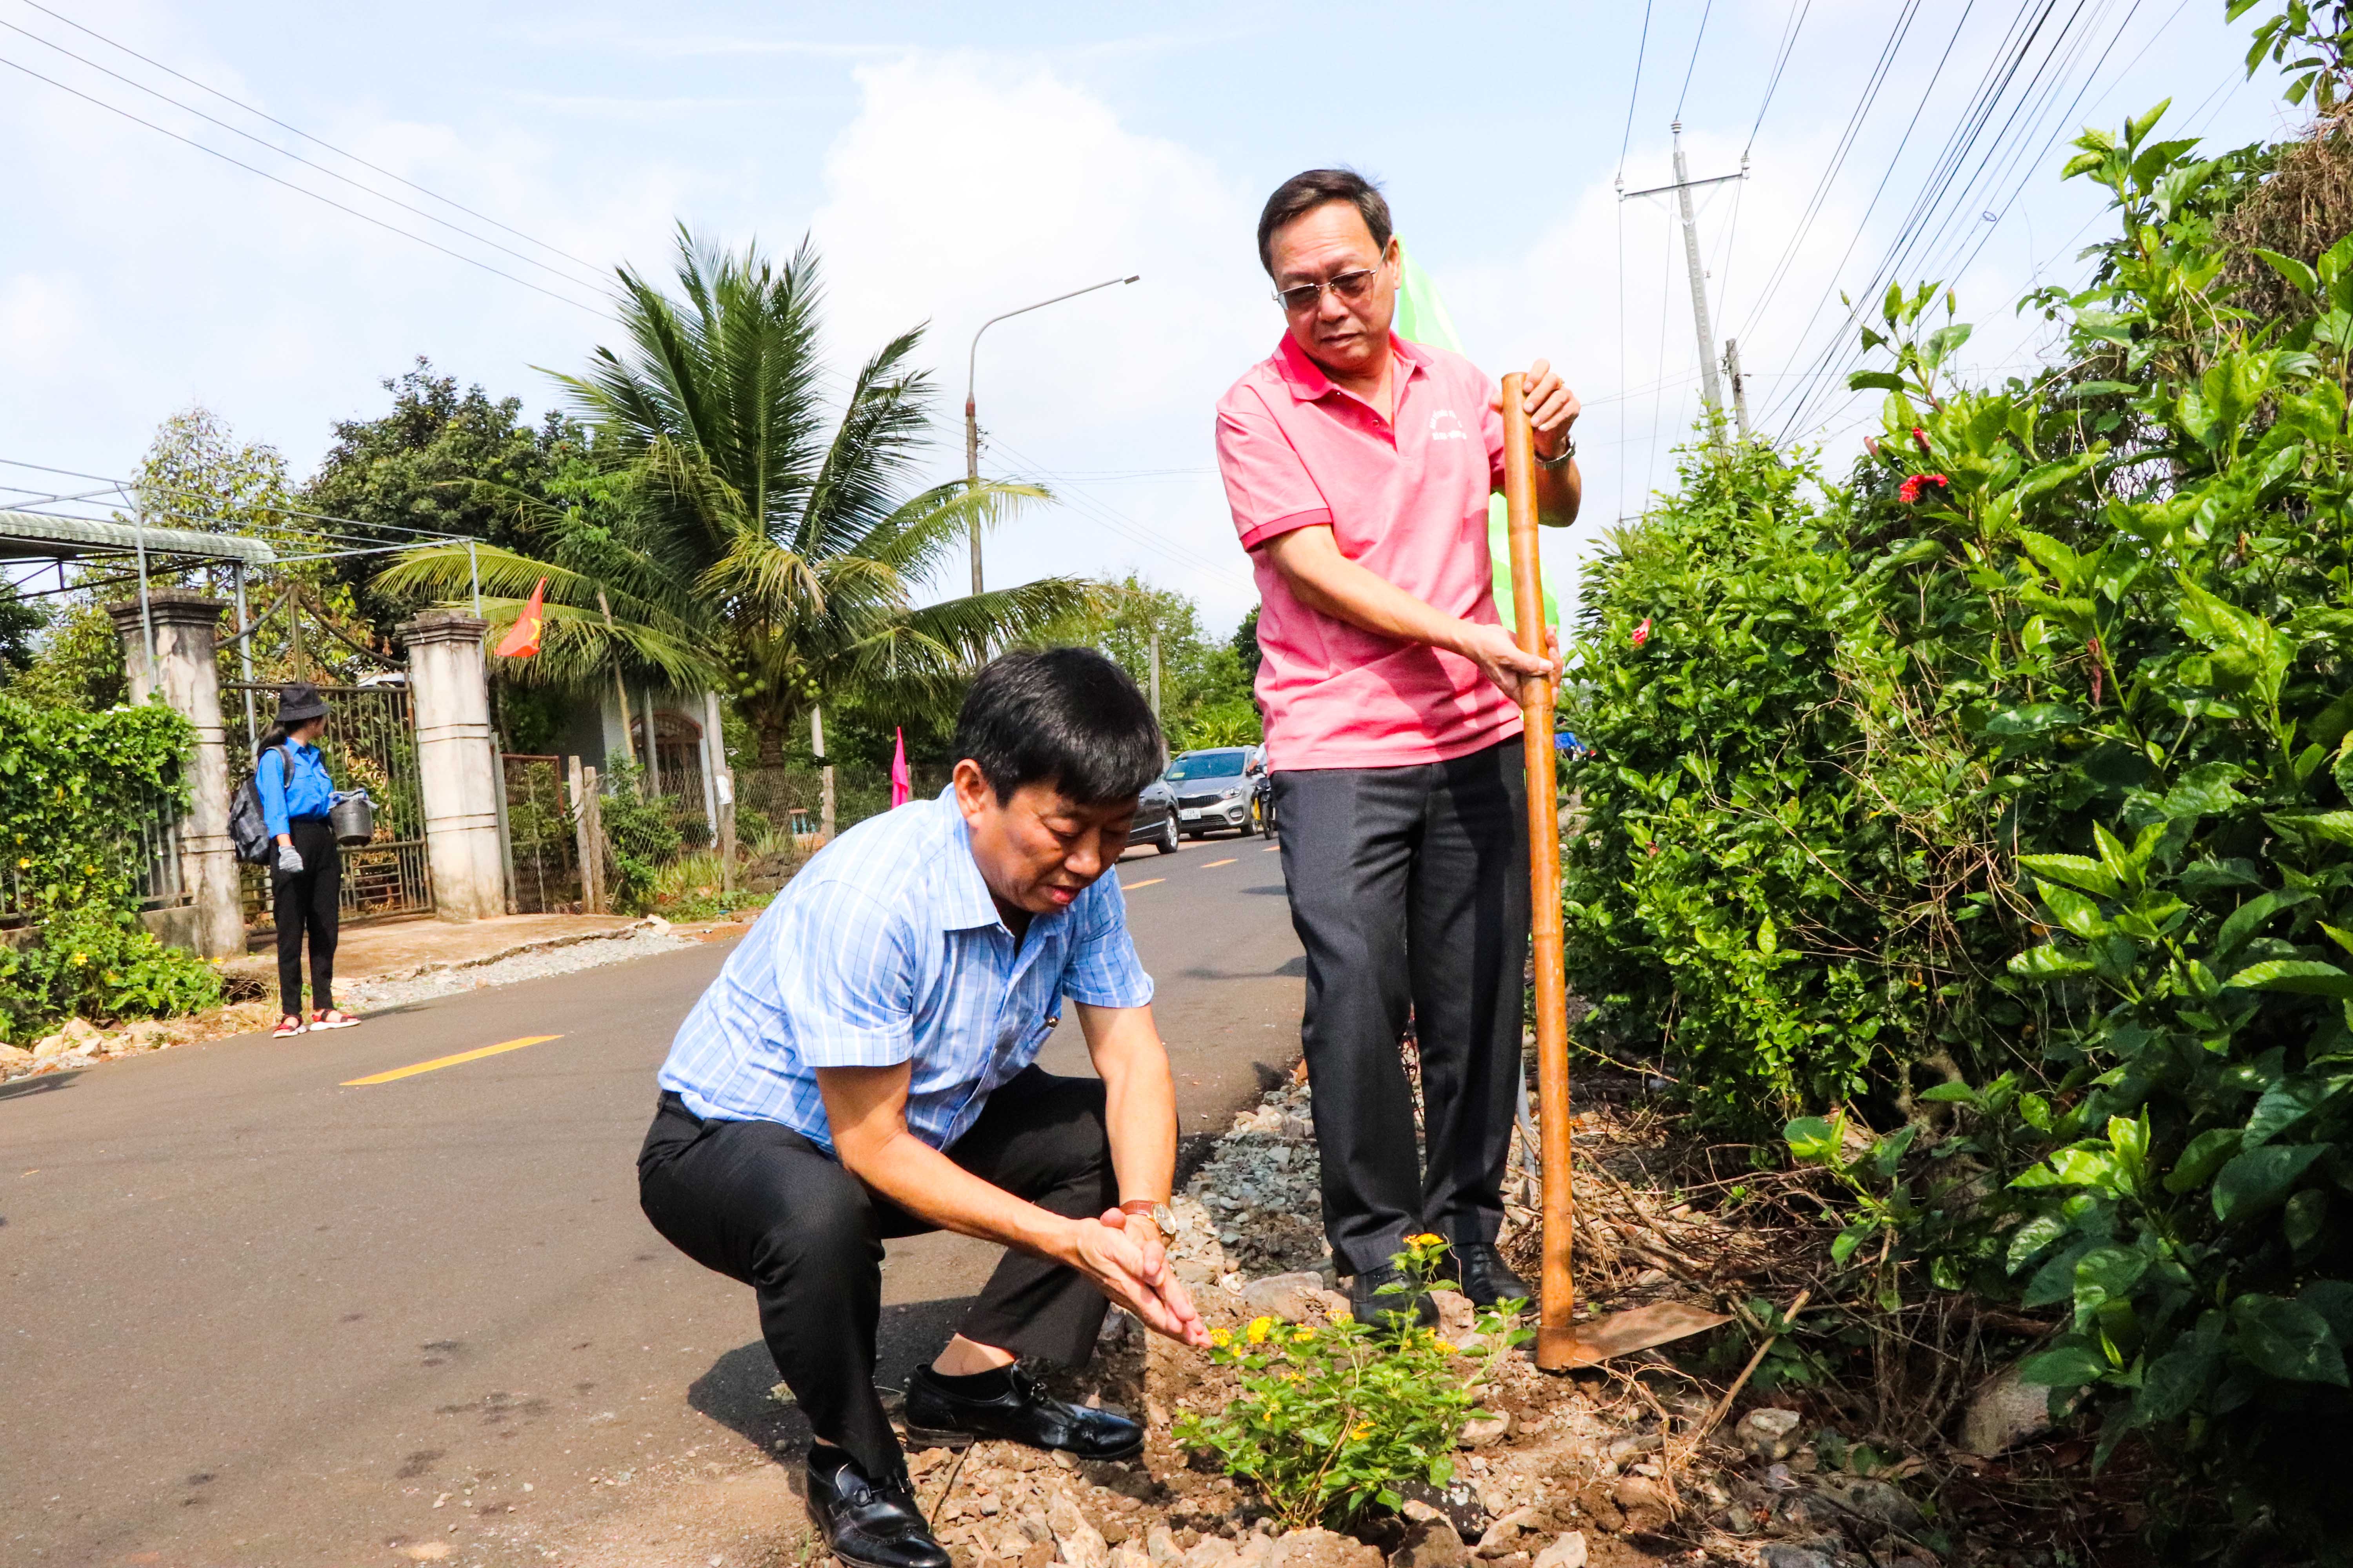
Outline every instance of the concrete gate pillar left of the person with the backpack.
POLYGON ((245 952, 238 851, 228 844, 221 668, 214 663, 221 609, 219 599, 172 588, 153 590, 146 614, 136 599, 106 607, 115 635, 122 639, 122 668, 132 679, 132 701, 144 703, 160 693, 167 708, 195 726, 195 748, 188 757, 188 813, 179 823, 181 882, 193 893, 191 922, 172 919, 162 936, 207 959, 245 952), (146 658, 148 623, 155 625, 153 677, 146 658))

